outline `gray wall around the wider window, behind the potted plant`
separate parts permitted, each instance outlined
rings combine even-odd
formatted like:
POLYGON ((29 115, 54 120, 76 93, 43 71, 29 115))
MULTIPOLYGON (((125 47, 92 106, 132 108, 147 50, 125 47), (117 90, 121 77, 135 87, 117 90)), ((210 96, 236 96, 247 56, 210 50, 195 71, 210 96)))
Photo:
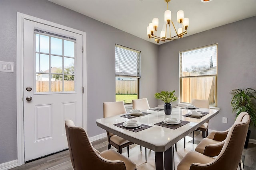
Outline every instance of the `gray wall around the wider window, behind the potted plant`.
MULTIPOLYGON (((234 88, 256 89, 256 16, 210 29, 158 47, 158 91, 179 90, 179 51, 218 43, 218 107, 209 129, 225 130, 234 123, 230 106, 234 88), (222 117, 228 123, 222 123, 222 117)), ((189 29, 188 29, 189 31, 189 29)), ((256 139, 252 129, 250 139, 256 139)))

